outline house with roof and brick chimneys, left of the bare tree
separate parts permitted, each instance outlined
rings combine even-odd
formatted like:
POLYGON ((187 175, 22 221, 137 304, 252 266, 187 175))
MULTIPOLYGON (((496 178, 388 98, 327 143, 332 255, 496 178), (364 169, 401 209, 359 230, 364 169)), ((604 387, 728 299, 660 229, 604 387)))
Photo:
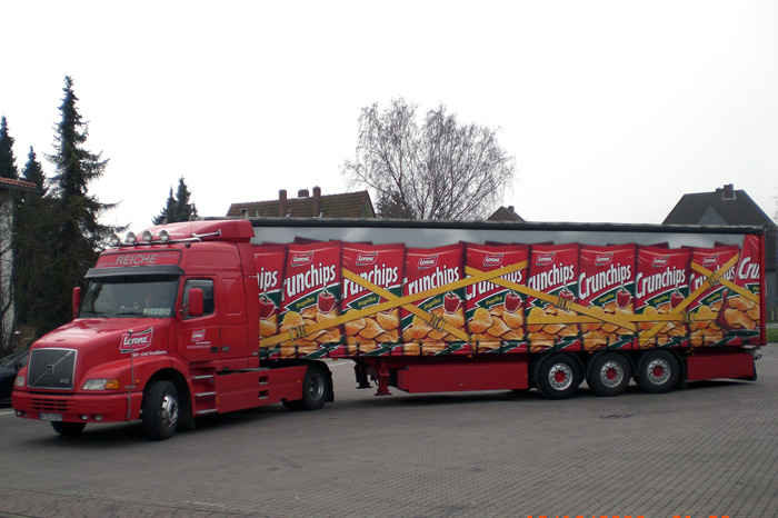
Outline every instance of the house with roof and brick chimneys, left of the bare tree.
POLYGON ((375 218, 376 211, 368 191, 321 196, 319 187, 313 196, 308 189, 297 191, 297 198, 287 198, 287 191, 278 191, 277 200, 232 203, 228 218, 375 218))

